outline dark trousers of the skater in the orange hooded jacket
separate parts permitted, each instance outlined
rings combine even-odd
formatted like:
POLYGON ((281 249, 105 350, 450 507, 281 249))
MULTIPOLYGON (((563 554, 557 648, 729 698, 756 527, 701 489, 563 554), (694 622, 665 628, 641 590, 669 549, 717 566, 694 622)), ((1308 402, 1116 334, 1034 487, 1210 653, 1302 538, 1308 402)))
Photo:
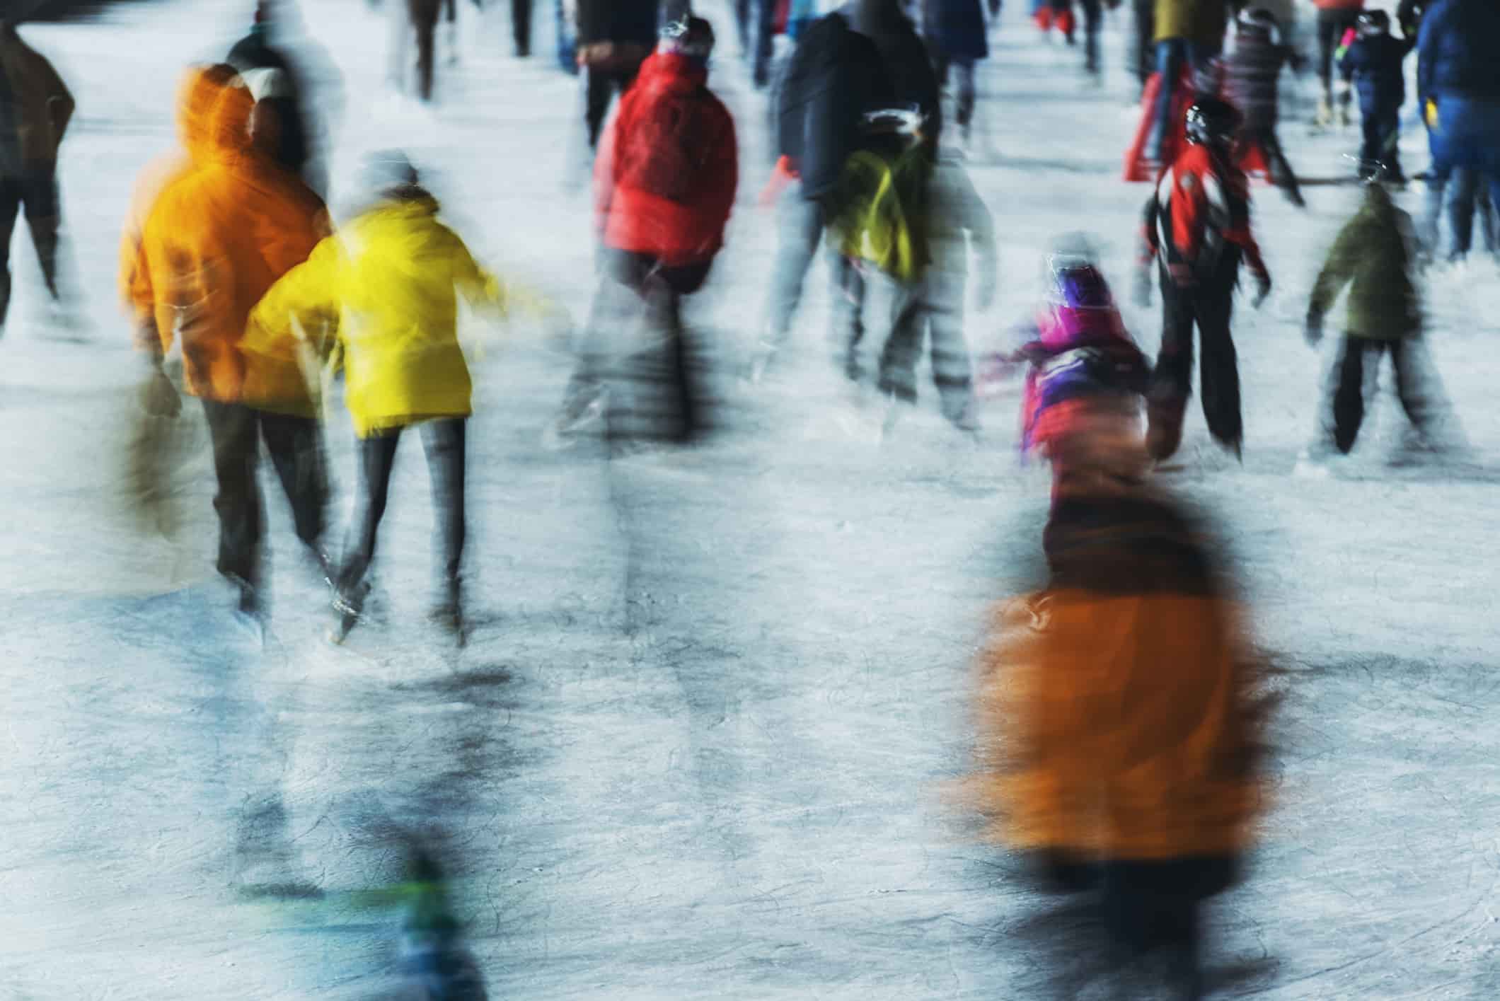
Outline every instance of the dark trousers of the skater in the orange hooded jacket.
POLYGON ((213 497, 213 509, 219 513, 219 573, 252 587, 260 584, 266 513, 255 477, 261 441, 291 504, 297 539, 318 554, 328 503, 318 422, 212 399, 202 401, 202 411, 208 419, 219 483, 213 497))

